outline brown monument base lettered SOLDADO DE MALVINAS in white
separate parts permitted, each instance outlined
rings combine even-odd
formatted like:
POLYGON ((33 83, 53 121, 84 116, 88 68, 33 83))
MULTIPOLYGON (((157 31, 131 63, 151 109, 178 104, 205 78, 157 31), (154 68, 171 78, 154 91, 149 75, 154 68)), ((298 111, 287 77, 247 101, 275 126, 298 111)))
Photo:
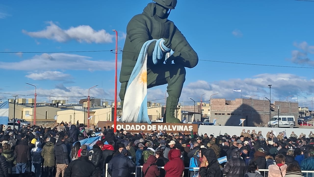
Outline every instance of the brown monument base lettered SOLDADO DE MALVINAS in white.
MULTIPOLYGON (((114 127, 113 121, 99 121, 98 127, 103 129, 104 127, 114 127)), ((132 133, 139 133, 143 131, 143 133, 150 133, 151 131, 156 130, 157 132, 166 130, 169 133, 179 133, 179 132, 193 132, 198 133, 198 125, 192 123, 120 123, 117 122, 116 126, 117 130, 123 129, 132 133)))

